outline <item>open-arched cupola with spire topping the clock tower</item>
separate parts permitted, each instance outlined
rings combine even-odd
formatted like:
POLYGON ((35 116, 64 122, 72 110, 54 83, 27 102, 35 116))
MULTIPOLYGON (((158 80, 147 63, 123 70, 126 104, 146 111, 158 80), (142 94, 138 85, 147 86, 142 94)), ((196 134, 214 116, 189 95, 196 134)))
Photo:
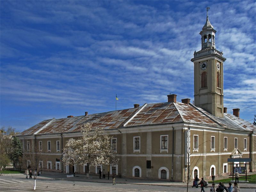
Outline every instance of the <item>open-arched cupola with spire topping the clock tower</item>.
POLYGON ((215 49, 215 33, 216 30, 213 29, 212 24, 209 21, 208 17, 208 10, 210 7, 207 7, 207 17, 206 17, 206 22, 204 24, 204 27, 202 28, 202 31, 200 32, 201 35, 201 44, 202 44, 202 49, 204 48, 213 48, 215 49))

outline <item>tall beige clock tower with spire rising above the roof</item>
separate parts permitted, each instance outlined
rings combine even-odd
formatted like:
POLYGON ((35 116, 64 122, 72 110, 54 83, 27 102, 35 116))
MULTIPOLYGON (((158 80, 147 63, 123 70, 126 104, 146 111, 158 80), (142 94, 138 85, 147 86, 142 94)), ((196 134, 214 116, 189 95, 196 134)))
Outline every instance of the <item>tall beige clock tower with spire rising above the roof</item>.
POLYGON ((194 52, 195 106, 204 108, 214 116, 223 117, 223 52, 215 48, 215 33, 207 17, 200 32, 202 49, 194 52))

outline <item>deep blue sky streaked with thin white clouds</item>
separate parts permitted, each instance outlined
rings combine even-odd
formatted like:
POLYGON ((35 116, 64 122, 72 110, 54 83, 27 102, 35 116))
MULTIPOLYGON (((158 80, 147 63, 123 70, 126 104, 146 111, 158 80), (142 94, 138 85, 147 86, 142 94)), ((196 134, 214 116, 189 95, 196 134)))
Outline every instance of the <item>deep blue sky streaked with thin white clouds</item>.
POLYGON ((1 127, 112 111, 116 94, 117 109, 166 102, 170 92, 193 100, 190 59, 207 6, 227 58, 224 107, 247 121, 256 114, 255 1, 0 3, 1 127))

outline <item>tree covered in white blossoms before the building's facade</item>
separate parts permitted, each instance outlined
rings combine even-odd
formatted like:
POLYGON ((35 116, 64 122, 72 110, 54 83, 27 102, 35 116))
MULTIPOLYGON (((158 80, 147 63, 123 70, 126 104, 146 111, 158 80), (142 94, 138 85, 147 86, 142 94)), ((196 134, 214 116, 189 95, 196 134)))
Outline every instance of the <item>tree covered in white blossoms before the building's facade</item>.
POLYGON ((106 134, 104 129, 93 127, 92 124, 84 124, 82 137, 79 139, 69 139, 66 143, 62 161, 66 165, 76 164, 84 166, 87 164, 87 178, 89 177, 89 166, 97 164, 110 165, 117 164, 116 152, 111 147, 111 136, 106 134))

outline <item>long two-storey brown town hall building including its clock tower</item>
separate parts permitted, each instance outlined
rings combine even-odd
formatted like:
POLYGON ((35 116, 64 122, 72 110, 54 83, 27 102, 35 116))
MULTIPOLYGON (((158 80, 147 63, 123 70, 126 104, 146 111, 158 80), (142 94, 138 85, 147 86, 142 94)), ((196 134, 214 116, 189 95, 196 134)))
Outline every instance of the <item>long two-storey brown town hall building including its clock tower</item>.
MULTIPOLYGON (((223 66, 226 58, 215 48, 216 30, 208 12, 201 35, 202 49, 194 52, 194 100, 176 100, 167 95, 166 102, 134 104, 134 107, 47 119, 20 133, 23 149, 36 146, 46 154, 41 169, 63 173, 85 173, 86 165, 62 163, 66 142, 79 138, 81 125, 91 123, 104 128, 112 136, 112 150, 118 164, 110 165, 110 174, 122 177, 153 178, 185 181, 229 175, 228 158, 251 158, 248 171, 256 171, 256 126, 239 118, 239 108, 233 115, 223 106, 223 66), (188 164, 189 163, 189 164, 188 164), (189 169, 188 169, 189 165, 189 169)), ((27 159, 27 166, 30 160, 27 159)), ((244 162, 236 162, 244 166, 244 162)), ((90 173, 108 165, 90 166, 90 173)))

